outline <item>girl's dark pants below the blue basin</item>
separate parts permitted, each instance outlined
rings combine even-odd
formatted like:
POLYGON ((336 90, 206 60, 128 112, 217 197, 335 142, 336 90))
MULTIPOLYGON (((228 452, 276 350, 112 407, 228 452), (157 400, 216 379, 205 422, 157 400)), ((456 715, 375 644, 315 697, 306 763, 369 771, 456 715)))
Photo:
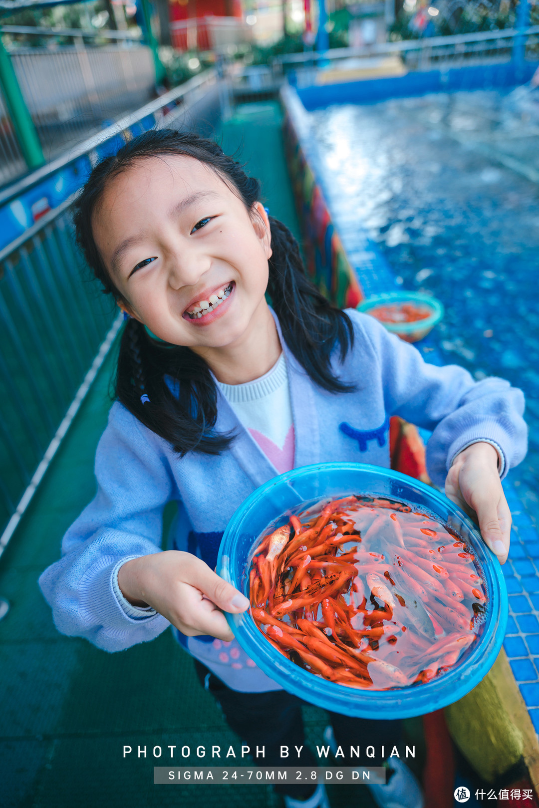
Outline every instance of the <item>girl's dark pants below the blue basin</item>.
MULTIPOLYGON (((262 766, 318 766, 325 758, 315 760, 312 751, 305 746, 305 732, 301 705, 305 704, 297 696, 284 690, 265 693, 242 693, 231 690, 218 676, 195 659, 196 673, 200 683, 214 696, 223 711, 230 729, 251 748, 255 756, 256 747, 265 747, 263 759, 255 757, 262 766), (288 758, 281 758, 280 747, 288 746, 288 758), (298 759, 294 747, 301 747, 298 759)), ((381 747, 385 747, 385 757, 390 755, 394 744, 401 739, 400 721, 371 721, 368 718, 350 718, 340 713, 328 711, 337 745, 343 748, 344 757, 338 758, 343 766, 381 766, 381 747), (361 757, 350 757, 350 747, 360 747, 361 757), (372 746, 375 757, 368 758, 366 747, 372 746)), ((276 785, 277 793, 303 800, 314 793, 312 785, 276 785)))

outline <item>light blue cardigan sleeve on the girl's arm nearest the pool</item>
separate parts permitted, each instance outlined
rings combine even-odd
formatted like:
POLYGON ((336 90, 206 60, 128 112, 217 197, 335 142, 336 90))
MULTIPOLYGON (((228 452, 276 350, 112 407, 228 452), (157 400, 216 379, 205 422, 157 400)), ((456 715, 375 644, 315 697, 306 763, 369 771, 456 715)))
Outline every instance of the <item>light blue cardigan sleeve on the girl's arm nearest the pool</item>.
POLYGON ((352 319, 379 366, 387 414, 432 431, 427 472, 436 485, 444 485, 453 458, 480 440, 501 453, 502 477, 524 459, 528 427, 520 389, 497 377, 474 381, 456 364, 428 364, 417 348, 390 334, 375 318, 355 312, 352 319))

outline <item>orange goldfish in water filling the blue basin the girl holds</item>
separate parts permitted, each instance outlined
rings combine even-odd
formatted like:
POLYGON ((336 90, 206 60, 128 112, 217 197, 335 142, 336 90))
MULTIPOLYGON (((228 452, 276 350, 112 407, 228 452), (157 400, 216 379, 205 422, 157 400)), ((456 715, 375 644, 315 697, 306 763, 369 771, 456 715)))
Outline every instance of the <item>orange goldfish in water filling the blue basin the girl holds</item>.
POLYGON ((302 516, 252 559, 251 613, 267 642, 352 688, 424 683, 457 663, 487 600, 457 535, 388 499, 349 496, 302 516))

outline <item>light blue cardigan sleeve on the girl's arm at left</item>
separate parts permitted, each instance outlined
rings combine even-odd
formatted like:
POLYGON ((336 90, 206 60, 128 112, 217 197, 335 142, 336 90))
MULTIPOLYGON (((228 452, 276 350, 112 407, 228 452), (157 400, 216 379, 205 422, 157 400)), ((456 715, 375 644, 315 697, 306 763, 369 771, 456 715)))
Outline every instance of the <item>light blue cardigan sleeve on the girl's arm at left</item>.
POLYGON ((65 533, 61 559, 40 575, 57 629, 103 650, 153 640, 170 625, 154 610, 129 614, 115 593, 122 562, 161 549, 162 509, 176 499, 162 443, 112 406, 95 456, 95 499, 65 533))

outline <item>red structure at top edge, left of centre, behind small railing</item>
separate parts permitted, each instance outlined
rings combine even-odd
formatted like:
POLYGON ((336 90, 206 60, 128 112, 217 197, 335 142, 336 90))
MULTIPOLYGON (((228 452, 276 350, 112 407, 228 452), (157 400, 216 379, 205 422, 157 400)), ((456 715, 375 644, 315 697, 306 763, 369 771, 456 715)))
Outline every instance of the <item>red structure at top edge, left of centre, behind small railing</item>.
POLYGON ((242 0, 169 0, 171 41, 177 50, 208 50, 215 31, 242 24, 242 0))

